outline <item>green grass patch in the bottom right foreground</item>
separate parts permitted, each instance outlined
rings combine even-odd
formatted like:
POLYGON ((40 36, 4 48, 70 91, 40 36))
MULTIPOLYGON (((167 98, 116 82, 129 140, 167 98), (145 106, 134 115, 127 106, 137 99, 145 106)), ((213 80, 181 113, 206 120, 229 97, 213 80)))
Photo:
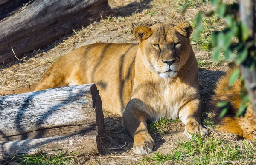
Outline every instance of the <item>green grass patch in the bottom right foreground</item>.
POLYGON ((144 157, 142 162, 180 163, 182 165, 204 164, 255 164, 256 142, 233 142, 218 136, 203 138, 195 136, 189 141, 177 142, 169 154, 155 153, 144 157))

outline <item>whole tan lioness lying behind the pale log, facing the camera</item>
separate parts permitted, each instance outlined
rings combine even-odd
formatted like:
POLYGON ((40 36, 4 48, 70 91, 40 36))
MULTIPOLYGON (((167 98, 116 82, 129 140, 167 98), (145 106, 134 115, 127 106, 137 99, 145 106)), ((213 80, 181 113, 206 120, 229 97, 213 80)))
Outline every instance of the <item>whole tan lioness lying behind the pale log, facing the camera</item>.
POLYGON ((192 27, 157 23, 138 26, 139 44, 97 43, 80 47, 57 60, 35 91, 64 85, 95 83, 106 111, 122 115, 134 138, 136 154, 153 151, 147 122, 179 117, 184 134, 205 136, 202 127, 198 63, 190 45, 192 27))

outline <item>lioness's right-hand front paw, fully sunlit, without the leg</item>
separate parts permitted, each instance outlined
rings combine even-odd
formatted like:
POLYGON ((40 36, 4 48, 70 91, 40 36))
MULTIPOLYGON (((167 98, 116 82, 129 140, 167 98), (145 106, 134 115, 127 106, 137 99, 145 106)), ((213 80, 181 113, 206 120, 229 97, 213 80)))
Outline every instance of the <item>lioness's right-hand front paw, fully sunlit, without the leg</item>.
POLYGON ((189 139, 192 138, 192 134, 199 134, 203 137, 208 135, 208 131, 206 128, 204 128, 200 123, 194 121, 194 122, 187 122, 184 135, 188 137, 189 139))

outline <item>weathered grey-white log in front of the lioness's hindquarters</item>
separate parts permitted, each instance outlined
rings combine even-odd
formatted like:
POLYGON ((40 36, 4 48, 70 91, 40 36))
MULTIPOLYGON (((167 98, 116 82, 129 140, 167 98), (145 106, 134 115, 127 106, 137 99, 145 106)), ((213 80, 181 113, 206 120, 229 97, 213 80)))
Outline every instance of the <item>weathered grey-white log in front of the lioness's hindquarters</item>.
POLYGON ((95 84, 0 97, 0 159, 35 149, 101 154, 103 130, 102 102, 95 84))

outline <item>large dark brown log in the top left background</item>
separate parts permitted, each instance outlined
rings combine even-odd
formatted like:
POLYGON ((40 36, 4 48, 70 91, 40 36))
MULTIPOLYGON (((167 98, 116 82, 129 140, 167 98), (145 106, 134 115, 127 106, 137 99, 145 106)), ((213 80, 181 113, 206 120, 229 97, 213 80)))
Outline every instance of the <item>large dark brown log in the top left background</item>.
POLYGON ((35 0, 0 23, 0 63, 46 46, 111 12, 108 0, 35 0))

